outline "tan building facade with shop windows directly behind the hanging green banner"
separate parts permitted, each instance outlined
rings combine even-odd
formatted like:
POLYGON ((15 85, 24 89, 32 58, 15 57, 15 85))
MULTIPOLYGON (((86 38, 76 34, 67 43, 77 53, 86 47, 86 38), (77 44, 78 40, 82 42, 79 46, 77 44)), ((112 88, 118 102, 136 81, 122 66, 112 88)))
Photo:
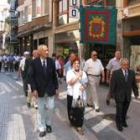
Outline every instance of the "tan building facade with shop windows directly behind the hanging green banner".
MULTIPOLYGON (((96 5, 103 7, 117 7, 118 20, 121 21, 122 1, 121 0, 56 0, 54 1, 54 42, 55 50, 58 54, 66 55, 71 51, 78 52, 85 59, 90 57, 92 50, 96 50, 104 66, 108 60, 114 56, 116 49, 121 50, 122 28, 117 24, 117 43, 116 45, 99 45, 93 43, 80 44, 80 25, 79 15, 72 16, 71 9, 83 6, 96 5), (76 6, 73 6, 72 3, 76 6)), ((78 13, 79 14, 79 13, 78 13)))

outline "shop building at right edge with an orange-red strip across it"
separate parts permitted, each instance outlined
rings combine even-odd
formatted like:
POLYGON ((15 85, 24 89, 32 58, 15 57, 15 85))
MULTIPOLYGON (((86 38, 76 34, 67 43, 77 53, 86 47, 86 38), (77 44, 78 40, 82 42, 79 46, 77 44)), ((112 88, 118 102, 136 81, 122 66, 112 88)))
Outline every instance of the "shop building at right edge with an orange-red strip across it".
POLYGON ((140 68, 140 0, 123 2, 123 54, 130 59, 131 68, 140 68))

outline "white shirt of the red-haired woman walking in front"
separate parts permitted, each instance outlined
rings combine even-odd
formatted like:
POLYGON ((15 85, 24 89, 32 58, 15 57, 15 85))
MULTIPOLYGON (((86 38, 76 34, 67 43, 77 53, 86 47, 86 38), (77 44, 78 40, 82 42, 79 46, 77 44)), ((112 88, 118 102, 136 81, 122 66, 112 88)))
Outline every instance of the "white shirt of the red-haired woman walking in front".
MULTIPOLYGON (((76 74, 75 74, 74 69, 69 70, 67 72, 67 75, 66 75, 66 81, 67 81, 67 83, 70 82, 75 77, 76 77, 76 74)), ((68 84, 68 86, 67 86, 67 94, 70 95, 70 96, 73 96, 73 87, 76 86, 76 85, 79 85, 79 83, 85 84, 87 82, 88 82, 87 75, 83 71, 83 75, 80 78, 80 80, 78 80, 74 85, 69 85, 68 84)))

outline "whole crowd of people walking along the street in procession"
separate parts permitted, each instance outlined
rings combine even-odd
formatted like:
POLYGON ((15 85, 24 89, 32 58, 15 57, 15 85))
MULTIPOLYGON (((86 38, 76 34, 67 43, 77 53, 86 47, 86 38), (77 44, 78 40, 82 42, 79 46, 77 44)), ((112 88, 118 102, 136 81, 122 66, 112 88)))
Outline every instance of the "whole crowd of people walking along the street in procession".
POLYGON ((40 45, 33 51, 32 58, 27 51, 22 59, 13 55, 0 56, 1 63, 8 59, 8 70, 17 67, 18 62, 27 106, 30 108, 33 102, 34 107, 38 109, 40 137, 44 137, 46 132, 52 132, 55 99, 59 96, 58 87, 62 84, 62 78, 67 83, 68 119, 79 134, 84 135, 82 126, 85 107, 100 111, 98 87, 100 81, 105 80, 109 83, 106 103, 109 105, 111 98, 116 102, 116 127, 119 131, 122 131, 123 127, 128 127, 126 115, 132 90, 136 98, 139 93, 135 73, 129 69, 128 59, 121 58, 120 51, 116 51, 114 58, 108 62, 106 74, 97 51, 92 51, 91 57, 86 61, 81 61, 75 53, 71 53, 67 61, 60 55, 52 54, 49 57, 48 54, 48 47, 40 45))

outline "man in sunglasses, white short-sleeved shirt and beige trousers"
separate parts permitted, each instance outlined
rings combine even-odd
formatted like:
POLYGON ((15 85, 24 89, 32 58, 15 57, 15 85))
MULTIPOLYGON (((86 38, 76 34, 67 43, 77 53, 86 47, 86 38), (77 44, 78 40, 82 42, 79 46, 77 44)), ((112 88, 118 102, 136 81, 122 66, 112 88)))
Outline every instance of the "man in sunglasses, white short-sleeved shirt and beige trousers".
POLYGON ((100 82, 100 75, 102 75, 102 82, 104 82, 104 67, 99 59, 97 59, 97 52, 92 51, 91 58, 85 63, 83 69, 88 75, 88 98, 87 105, 95 107, 95 111, 99 112, 99 100, 97 88, 100 82))

